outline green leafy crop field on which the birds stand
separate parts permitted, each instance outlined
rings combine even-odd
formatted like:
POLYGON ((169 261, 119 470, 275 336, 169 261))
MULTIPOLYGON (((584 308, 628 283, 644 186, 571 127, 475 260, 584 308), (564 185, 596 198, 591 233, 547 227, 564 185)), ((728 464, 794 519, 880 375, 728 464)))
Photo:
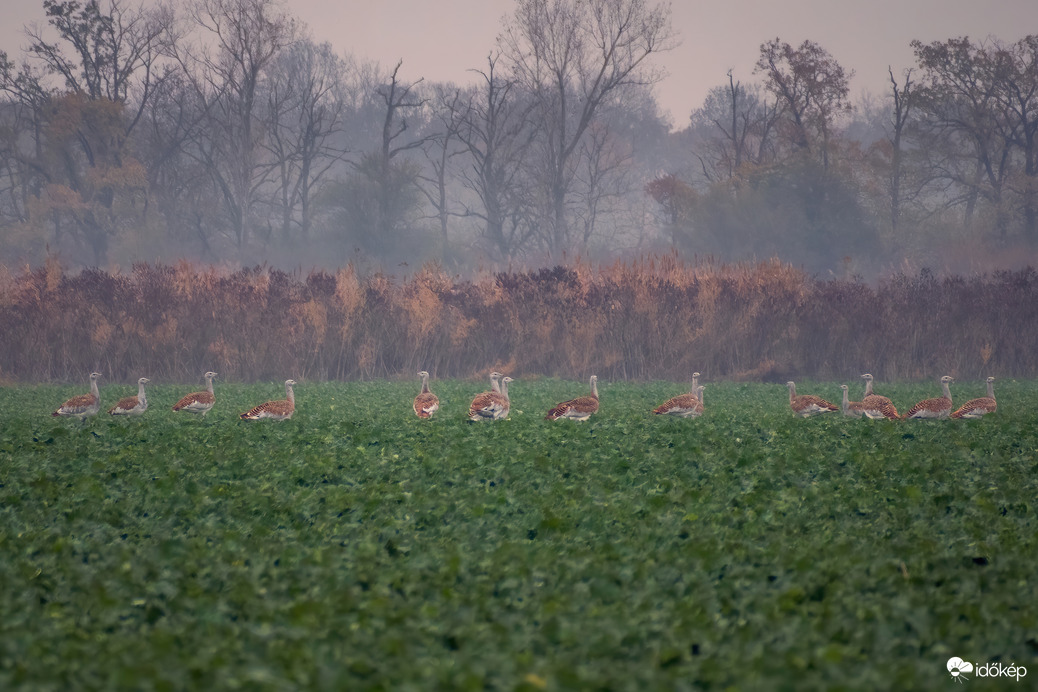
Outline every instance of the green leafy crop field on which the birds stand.
POLYGON ((683 385, 600 382, 584 423, 543 416, 585 382, 519 380, 493 423, 465 420, 485 383, 432 384, 428 421, 416 380, 300 382, 285 422, 237 419, 280 384, 217 381, 204 419, 156 385, 142 419, 83 426, 50 416, 83 386, 0 389, 0 689, 947 690, 952 656, 1038 677, 1038 383, 890 422, 709 381, 702 418, 661 419, 683 385))

